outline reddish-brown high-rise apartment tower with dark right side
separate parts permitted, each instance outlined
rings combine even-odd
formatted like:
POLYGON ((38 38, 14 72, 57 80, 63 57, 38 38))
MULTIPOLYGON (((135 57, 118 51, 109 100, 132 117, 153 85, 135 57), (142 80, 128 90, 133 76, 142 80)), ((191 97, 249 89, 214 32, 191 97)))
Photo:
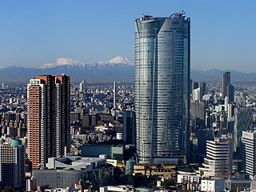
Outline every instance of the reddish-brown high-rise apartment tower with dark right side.
POLYGON ((30 79, 27 110, 28 157, 34 169, 70 150, 70 77, 30 79))

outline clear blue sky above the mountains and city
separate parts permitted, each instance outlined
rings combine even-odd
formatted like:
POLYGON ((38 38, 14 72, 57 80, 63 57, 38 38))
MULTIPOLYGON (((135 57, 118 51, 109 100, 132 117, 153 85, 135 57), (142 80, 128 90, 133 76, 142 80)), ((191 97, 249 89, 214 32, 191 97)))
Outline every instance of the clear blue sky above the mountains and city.
POLYGON ((134 61, 134 19, 191 18, 191 68, 256 71, 255 0, 0 0, 0 66, 134 61))

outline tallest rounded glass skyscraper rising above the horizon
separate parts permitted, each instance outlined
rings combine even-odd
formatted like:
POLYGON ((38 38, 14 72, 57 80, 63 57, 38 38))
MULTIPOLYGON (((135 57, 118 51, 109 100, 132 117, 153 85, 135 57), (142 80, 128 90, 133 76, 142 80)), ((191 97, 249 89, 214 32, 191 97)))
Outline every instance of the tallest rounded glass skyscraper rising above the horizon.
POLYGON ((135 20, 135 112, 139 162, 185 159, 190 135, 190 18, 135 20))

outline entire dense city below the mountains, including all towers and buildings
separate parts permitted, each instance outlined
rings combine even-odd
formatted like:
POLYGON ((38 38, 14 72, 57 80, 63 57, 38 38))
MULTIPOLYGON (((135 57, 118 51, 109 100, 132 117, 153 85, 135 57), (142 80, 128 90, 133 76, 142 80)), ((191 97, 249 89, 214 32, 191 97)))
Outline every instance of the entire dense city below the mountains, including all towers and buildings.
POLYGON ((256 190, 254 83, 191 79, 183 11, 134 39, 134 82, 2 82, 1 191, 256 190))

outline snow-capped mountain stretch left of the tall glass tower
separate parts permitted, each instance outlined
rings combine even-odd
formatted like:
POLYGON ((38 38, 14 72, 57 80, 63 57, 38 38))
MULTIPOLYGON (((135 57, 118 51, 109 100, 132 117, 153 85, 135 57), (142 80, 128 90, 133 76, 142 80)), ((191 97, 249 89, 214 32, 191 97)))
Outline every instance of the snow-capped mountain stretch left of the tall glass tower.
POLYGON ((38 74, 66 74, 71 82, 133 82, 134 65, 128 58, 116 57, 107 62, 86 63, 74 58, 58 58, 42 69, 10 66, 0 69, 0 82, 28 82, 38 74))

